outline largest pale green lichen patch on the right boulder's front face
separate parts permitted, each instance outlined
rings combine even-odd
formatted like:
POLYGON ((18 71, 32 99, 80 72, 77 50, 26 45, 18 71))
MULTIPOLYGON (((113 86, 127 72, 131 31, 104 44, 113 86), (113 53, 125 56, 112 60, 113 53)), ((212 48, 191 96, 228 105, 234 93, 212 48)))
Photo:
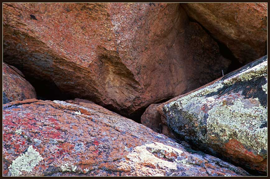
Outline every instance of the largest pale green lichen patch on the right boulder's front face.
POLYGON ((208 115, 208 132, 216 134, 224 143, 234 138, 252 147, 257 154, 267 150, 267 128, 261 128, 267 123, 267 109, 263 106, 244 108, 241 99, 237 99, 233 105, 222 105, 221 102, 214 105, 208 115))

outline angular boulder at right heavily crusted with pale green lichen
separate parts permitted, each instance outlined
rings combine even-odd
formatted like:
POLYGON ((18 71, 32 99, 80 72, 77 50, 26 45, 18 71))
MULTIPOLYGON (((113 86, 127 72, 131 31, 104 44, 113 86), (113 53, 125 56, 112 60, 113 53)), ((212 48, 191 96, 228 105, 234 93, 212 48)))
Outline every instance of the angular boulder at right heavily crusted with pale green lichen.
POLYGON ((180 139, 249 171, 267 173, 267 56, 163 110, 180 139))

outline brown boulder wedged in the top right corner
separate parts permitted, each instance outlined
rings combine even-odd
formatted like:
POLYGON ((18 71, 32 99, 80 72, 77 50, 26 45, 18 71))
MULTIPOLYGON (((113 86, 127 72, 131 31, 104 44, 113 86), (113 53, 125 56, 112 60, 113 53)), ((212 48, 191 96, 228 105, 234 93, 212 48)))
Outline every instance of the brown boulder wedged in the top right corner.
POLYGON ((267 3, 183 3, 181 6, 241 63, 266 54, 267 3))

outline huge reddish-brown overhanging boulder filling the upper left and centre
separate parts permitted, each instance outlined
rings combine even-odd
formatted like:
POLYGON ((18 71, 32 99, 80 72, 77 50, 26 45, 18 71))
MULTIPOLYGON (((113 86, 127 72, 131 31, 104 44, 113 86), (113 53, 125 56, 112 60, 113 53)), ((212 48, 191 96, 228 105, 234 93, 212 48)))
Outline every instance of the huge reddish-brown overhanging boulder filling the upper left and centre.
POLYGON ((229 65, 176 3, 4 3, 3 56, 42 85, 129 117, 229 65))

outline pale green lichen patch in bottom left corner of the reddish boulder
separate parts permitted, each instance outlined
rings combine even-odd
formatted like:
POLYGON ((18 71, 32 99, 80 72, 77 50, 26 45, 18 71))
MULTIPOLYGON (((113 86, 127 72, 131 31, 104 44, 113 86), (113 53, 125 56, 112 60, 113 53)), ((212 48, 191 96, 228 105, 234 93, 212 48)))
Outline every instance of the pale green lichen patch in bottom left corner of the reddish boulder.
POLYGON ((9 172, 11 172, 11 176, 20 176, 22 171, 31 172, 41 160, 43 158, 39 152, 30 145, 25 154, 21 154, 12 161, 12 164, 8 167, 10 168, 9 172))

